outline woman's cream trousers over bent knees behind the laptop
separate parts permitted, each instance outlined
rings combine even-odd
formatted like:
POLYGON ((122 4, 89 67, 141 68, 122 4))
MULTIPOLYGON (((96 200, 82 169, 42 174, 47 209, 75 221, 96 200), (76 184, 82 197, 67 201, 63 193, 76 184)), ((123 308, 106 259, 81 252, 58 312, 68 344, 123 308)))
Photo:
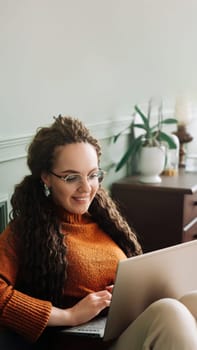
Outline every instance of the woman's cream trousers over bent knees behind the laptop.
POLYGON ((111 350, 197 350, 197 291, 151 304, 111 350))

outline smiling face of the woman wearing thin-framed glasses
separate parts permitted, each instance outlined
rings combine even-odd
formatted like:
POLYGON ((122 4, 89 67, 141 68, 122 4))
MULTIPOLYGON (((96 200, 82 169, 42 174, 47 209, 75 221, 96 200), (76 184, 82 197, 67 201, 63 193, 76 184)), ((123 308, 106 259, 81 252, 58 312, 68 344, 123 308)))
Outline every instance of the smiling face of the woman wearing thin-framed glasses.
POLYGON ((98 171, 96 150, 89 143, 72 143, 59 146, 54 157, 53 174, 42 174, 43 182, 50 188, 56 204, 70 213, 84 214, 99 188, 94 176, 98 171), (71 174, 68 181, 57 177, 71 174))

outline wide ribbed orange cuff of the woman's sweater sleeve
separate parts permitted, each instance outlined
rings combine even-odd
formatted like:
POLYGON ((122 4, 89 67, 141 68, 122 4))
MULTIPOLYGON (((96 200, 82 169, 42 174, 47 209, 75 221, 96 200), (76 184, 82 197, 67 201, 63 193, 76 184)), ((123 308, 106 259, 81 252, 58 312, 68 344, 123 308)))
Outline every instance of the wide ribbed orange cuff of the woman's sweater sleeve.
POLYGON ((47 326, 52 304, 14 291, 4 309, 4 325, 31 342, 35 342, 47 326))

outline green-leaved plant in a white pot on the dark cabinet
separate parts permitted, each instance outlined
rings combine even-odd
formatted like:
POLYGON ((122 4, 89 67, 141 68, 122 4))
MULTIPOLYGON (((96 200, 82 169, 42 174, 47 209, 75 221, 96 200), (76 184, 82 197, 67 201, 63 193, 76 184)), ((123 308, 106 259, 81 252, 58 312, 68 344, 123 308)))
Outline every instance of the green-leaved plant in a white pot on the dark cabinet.
MULTIPOLYGON (((122 158, 116 165, 116 171, 119 171, 125 164, 130 165, 131 172, 134 173, 136 171, 136 163, 137 170, 141 173, 145 174, 144 178, 141 177, 141 181, 143 182, 160 182, 161 179, 158 176, 165 166, 166 161, 166 152, 165 146, 168 145, 170 149, 175 149, 177 147, 176 143, 172 139, 172 137, 164 132, 163 125, 164 124, 175 124, 177 120, 174 118, 163 118, 162 113, 162 104, 158 107, 157 120, 155 124, 151 124, 151 110, 152 110, 152 100, 149 101, 148 112, 145 115, 142 110, 135 105, 134 106, 134 114, 131 123, 128 125, 127 129, 129 132, 129 142, 128 147, 123 154, 122 158), (141 119, 141 123, 136 122, 136 116, 139 116, 141 119), (142 133, 136 136, 136 129, 140 129, 142 133), (153 158, 151 155, 153 153, 153 158), (153 161, 151 161, 153 159, 153 161), (148 167, 152 166, 152 169, 148 169, 148 167), (158 167, 158 170, 155 168, 158 167), (156 171, 156 175, 155 175, 156 171)), ((114 136, 113 141, 116 142, 120 135, 125 132, 119 132, 114 136)))

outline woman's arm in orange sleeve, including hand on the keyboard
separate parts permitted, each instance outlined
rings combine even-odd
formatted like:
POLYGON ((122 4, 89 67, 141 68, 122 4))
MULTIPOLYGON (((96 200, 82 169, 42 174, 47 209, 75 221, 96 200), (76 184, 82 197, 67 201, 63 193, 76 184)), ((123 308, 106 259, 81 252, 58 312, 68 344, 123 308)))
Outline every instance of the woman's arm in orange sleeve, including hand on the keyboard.
POLYGON ((10 244, 9 229, 0 236, 0 325, 36 341, 46 326, 73 326, 89 321, 110 305, 111 287, 90 293, 68 309, 30 297, 14 289, 18 271, 15 244, 10 244), (8 244, 9 242, 9 244, 8 244))

